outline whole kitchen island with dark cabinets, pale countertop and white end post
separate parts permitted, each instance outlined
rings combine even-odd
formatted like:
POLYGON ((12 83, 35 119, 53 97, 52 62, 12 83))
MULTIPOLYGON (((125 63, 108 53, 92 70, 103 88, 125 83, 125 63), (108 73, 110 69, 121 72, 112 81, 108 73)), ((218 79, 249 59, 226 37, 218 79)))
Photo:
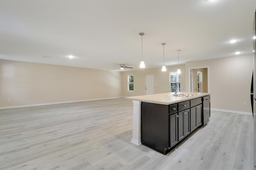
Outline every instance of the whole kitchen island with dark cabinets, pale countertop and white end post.
POLYGON ((179 92, 174 96, 172 92, 125 99, 133 102, 131 142, 162 154, 167 154, 210 117, 210 93, 179 92), (209 101, 206 109, 204 100, 209 101))

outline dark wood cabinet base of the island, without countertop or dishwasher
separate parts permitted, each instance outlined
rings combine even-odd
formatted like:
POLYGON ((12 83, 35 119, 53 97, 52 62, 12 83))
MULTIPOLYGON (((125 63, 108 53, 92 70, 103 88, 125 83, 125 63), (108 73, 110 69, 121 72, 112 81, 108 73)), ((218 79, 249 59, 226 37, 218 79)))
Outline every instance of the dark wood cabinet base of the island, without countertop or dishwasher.
POLYGON ((202 97, 171 105, 141 102, 141 143, 162 154, 202 126, 202 97))

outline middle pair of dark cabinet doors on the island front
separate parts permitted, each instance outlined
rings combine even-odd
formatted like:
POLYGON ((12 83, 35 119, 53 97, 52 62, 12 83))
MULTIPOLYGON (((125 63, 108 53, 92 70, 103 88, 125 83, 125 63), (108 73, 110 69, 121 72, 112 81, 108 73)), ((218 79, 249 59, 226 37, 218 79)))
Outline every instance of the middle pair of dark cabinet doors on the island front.
POLYGON ((179 141, 190 134, 190 109, 178 113, 178 138, 179 141))

